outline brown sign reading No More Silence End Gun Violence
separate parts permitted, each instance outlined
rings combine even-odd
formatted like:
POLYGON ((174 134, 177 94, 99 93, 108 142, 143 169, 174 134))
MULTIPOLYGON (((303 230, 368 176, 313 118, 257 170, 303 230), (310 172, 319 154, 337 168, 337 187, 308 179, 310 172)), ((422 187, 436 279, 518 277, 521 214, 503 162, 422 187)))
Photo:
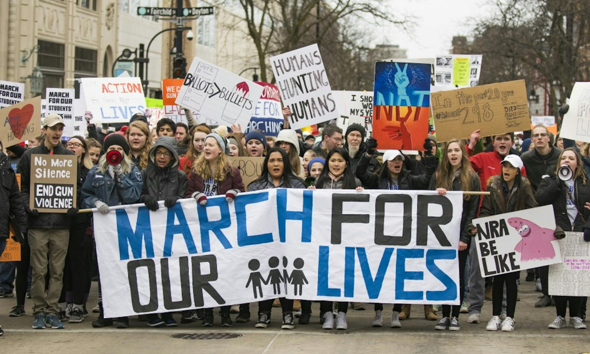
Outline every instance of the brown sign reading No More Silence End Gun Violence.
POLYGON ((31 155, 31 209, 67 212, 76 207, 77 168, 75 155, 31 155))

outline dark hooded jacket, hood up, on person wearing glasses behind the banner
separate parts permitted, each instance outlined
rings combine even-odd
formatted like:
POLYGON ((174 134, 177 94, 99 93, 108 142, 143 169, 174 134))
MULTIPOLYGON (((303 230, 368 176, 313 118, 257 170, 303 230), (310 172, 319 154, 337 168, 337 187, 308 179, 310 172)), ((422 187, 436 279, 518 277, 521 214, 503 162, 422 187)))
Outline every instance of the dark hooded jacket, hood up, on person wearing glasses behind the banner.
POLYGON ((158 141, 149 151, 148 167, 142 171, 142 197, 153 196, 163 201, 167 196, 184 198, 186 194, 186 174, 178 169, 178 150, 176 150, 176 139, 171 136, 160 136, 158 141), (172 159, 168 166, 160 168, 156 164, 156 149, 159 146, 166 148, 172 159))

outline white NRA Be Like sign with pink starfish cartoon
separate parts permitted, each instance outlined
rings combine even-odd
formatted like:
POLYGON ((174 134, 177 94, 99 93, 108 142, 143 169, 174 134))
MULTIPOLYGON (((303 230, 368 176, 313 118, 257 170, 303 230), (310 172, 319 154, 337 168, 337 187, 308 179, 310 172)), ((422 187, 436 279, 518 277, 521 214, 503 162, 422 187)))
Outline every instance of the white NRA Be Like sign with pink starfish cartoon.
POLYGON ((473 225, 482 277, 561 261, 552 205, 473 219, 473 225))

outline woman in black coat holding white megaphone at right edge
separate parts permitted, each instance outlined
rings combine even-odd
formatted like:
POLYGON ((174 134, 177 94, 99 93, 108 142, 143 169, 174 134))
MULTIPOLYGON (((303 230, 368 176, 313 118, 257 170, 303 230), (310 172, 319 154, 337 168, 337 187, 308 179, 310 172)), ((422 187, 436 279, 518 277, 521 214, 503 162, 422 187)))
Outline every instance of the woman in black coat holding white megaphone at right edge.
MULTIPOLYGON (((586 181, 586 173, 582 167, 582 159, 573 148, 566 148, 560 153, 555 174, 545 176, 535 199, 539 205, 553 205, 555 213, 556 238, 562 231, 584 232, 584 240, 590 240, 590 184, 586 181), (557 177, 558 169, 568 165, 573 176, 568 181, 557 177), (560 229, 560 230, 559 230, 560 229)), ((569 325, 576 329, 586 328, 582 323, 579 309, 585 297, 553 296, 555 299, 556 319, 549 328, 567 327, 565 322, 566 307, 569 303, 569 325)))

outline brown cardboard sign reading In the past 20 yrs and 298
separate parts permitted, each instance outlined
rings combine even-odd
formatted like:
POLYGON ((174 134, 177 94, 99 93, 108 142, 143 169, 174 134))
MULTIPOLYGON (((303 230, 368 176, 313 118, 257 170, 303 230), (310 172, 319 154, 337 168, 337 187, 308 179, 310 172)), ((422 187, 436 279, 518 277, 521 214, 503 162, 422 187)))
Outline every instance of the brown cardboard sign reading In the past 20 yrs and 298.
POLYGON ((431 100, 438 142, 467 138, 476 129, 489 136, 530 127, 525 80, 439 91, 431 100))

